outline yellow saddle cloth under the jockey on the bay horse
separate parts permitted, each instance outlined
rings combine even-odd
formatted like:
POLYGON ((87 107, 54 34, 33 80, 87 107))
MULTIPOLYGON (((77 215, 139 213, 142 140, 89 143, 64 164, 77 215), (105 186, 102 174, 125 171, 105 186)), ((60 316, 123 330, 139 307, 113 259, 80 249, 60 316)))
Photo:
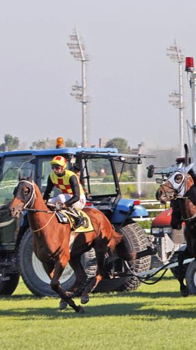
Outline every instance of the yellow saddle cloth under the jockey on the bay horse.
POLYGON ((58 221, 61 224, 70 224, 71 230, 74 231, 75 233, 94 231, 94 227, 93 227, 93 224, 92 224, 89 216, 82 210, 78 210, 78 212, 79 212, 79 215, 81 215, 85 218, 85 222, 88 222, 87 228, 85 227, 87 225, 85 225, 85 226, 81 225, 81 226, 77 227, 77 229, 75 229, 75 226, 74 226, 75 221, 74 221, 73 215, 68 214, 64 210, 56 211, 56 216, 58 218, 58 221))

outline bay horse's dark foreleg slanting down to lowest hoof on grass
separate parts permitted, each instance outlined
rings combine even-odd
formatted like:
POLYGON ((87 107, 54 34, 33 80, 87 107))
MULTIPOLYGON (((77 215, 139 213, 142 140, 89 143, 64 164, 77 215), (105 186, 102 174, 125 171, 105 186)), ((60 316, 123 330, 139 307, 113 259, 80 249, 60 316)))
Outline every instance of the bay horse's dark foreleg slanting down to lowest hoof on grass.
POLYGON ((51 278, 51 289, 60 295, 61 302, 68 303, 69 306, 75 310, 75 312, 83 313, 84 310, 80 305, 75 305, 75 302, 70 297, 66 296, 66 293, 62 289, 59 279, 64 271, 64 268, 68 262, 68 259, 64 259, 63 264, 61 261, 58 261, 53 270, 53 276, 51 278))

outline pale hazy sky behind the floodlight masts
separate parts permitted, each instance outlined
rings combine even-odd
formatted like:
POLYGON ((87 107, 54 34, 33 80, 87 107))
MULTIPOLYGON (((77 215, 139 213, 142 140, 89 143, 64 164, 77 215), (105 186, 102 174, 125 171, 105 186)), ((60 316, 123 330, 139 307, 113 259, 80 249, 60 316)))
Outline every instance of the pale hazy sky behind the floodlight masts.
MULTIPOLYGON (((90 55, 88 142, 122 137, 131 148, 179 147, 178 65, 167 47, 195 56, 196 2, 0 0, 0 143, 5 134, 82 142, 82 106, 71 96, 81 63, 66 43, 77 27, 90 55)), ((184 132, 191 89, 184 72, 184 132)))

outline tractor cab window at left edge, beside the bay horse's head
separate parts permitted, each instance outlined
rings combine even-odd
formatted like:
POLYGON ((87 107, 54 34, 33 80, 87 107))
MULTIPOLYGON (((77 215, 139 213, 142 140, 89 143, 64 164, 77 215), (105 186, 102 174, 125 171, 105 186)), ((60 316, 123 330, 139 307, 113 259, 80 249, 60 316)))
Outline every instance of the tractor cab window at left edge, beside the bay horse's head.
POLYGON ((1 161, 0 171, 0 206, 7 205, 13 199, 13 191, 19 182, 19 173, 28 177, 34 172, 34 157, 8 156, 1 161))

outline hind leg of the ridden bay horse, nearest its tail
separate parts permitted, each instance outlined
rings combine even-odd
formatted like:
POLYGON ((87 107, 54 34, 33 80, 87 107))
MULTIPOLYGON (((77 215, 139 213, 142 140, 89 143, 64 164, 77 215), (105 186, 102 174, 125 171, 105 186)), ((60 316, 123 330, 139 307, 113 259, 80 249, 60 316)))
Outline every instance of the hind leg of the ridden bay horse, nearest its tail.
POLYGON ((96 276, 94 277, 93 281, 91 281, 86 288, 84 289, 84 292, 82 292, 81 296, 81 303, 86 304, 89 301, 89 293, 93 292, 95 288, 97 287, 98 283, 103 278, 103 265, 104 265, 104 259, 105 259, 105 250, 96 250, 95 248, 95 254, 97 258, 97 272, 96 276))

